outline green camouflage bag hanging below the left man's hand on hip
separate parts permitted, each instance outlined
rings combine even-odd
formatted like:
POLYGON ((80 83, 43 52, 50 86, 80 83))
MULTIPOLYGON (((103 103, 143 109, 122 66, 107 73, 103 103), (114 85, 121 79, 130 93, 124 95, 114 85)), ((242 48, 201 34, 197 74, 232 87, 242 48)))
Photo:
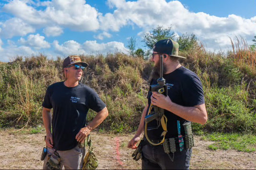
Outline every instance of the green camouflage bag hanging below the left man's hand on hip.
POLYGON ((89 146, 89 149, 85 155, 82 170, 95 170, 98 167, 98 159, 93 152, 92 139, 90 135, 87 137, 86 145, 89 146))

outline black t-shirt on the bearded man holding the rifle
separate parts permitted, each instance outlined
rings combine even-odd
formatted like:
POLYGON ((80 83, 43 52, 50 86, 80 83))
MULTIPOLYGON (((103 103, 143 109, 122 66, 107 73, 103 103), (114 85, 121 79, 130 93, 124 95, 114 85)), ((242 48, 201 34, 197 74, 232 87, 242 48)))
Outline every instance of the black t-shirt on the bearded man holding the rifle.
MULTIPOLYGON (((168 88, 168 96, 170 97, 172 102, 187 107, 192 107, 205 103, 202 83, 198 76, 191 70, 180 67, 169 74, 164 74, 163 78, 165 79, 168 88)), ((155 79, 151 80, 150 85, 154 84, 157 84, 157 80, 155 79)), ((147 95, 148 105, 150 105, 151 103, 151 95, 152 92, 149 91, 147 95)), ((181 134, 184 135, 184 128, 182 124, 186 120, 166 110, 164 110, 164 113, 168 119, 168 132, 165 137, 178 137, 177 120, 180 121, 181 134)), ((148 128, 156 126, 157 121, 155 120, 148 123, 148 128)), ((147 131, 150 139, 162 139, 162 137, 160 137, 162 132, 163 129, 161 125, 158 129, 152 129, 147 131)))

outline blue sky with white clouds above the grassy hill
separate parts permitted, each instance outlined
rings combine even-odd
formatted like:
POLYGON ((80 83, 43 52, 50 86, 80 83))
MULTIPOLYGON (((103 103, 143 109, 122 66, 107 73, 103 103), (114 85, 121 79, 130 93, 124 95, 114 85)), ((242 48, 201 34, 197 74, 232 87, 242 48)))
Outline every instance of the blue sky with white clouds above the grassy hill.
POLYGON ((146 49, 143 35, 158 25, 223 51, 229 37, 253 43, 255 9, 256 0, 0 0, 0 61, 127 53, 130 37, 146 49))

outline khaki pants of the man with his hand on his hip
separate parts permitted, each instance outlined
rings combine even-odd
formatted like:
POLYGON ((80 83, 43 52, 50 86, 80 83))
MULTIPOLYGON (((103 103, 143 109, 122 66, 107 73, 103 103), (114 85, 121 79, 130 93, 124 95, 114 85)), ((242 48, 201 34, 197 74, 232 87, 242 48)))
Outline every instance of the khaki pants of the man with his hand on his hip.
MULTIPOLYGON (((49 159, 49 155, 53 154, 55 150, 48 148, 47 149, 47 156, 44 159, 44 170, 49 170, 49 168, 46 166, 46 163, 49 159)), ((83 168, 83 160, 85 156, 85 147, 79 147, 79 144, 70 150, 57 150, 61 157, 61 169, 64 166, 65 170, 78 170, 83 168)))

